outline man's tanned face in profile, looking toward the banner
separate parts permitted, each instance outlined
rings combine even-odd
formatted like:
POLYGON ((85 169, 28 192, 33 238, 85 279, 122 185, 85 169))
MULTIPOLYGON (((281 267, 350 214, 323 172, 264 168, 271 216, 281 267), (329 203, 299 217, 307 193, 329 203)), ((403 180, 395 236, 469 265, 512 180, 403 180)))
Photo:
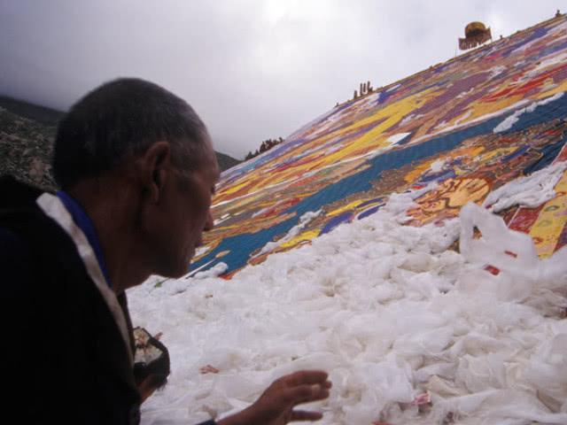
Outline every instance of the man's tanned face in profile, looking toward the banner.
POLYGON ((162 206, 164 235, 159 236, 158 274, 180 277, 203 242, 203 231, 213 228, 211 201, 219 179, 213 147, 207 141, 202 165, 190 172, 173 170, 162 206))

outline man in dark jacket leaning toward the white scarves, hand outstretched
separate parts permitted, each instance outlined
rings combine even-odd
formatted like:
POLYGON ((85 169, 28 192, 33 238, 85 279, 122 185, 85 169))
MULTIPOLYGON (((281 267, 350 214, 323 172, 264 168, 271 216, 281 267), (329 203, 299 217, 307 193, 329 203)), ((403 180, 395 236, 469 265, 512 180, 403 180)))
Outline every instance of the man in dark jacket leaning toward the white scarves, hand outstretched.
MULTIPOLYGON (((57 196, 0 179, 4 415, 137 423, 125 290, 150 274, 185 274, 213 227, 219 170, 209 135, 167 90, 112 81, 61 121, 52 172, 57 196)), ((315 421, 320 413, 295 406, 329 389, 322 371, 283 376, 218 424, 315 421)))

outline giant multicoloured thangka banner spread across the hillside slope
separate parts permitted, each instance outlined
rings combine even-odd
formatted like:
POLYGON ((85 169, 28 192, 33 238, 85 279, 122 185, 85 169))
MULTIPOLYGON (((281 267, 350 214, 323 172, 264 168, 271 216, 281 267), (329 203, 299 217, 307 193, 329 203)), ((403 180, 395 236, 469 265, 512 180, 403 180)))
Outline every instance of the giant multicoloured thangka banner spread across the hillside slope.
POLYGON ((565 91, 567 18, 560 15, 338 104, 222 174, 215 228, 191 274, 222 262, 229 278, 410 190, 408 226, 453 218, 470 201, 497 206, 548 257, 567 243, 567 175, 537 208, 487 196, 567 158, 565 91))

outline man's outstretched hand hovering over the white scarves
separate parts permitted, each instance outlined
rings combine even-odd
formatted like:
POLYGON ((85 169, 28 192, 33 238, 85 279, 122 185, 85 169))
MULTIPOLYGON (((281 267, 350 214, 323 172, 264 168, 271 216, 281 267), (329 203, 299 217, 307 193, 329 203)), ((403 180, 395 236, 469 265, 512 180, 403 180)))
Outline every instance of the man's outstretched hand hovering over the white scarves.
POLYGON ((272 383, 252 406, 219 421, 218 425, 284 425, 291 421, 318 421, 322 413, 293 408, 328 398, 331 383, 327 376, 320 370, 285 375, 272 383))

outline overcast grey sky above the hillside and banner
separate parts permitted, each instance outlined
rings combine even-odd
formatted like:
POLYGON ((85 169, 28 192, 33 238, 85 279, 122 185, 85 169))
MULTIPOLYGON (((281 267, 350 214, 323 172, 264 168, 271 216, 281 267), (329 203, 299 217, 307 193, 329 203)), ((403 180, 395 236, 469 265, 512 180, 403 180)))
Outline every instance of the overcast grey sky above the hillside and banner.
MULTIPOLYGON (((66 110, 136 76, 205 120, 243 158, 353 96, 452 58, 472 20, 494 39, 564 0, 0 0, 0 94, 66 110)), ((565 11, 562 11, 565 12, 565 11)))

